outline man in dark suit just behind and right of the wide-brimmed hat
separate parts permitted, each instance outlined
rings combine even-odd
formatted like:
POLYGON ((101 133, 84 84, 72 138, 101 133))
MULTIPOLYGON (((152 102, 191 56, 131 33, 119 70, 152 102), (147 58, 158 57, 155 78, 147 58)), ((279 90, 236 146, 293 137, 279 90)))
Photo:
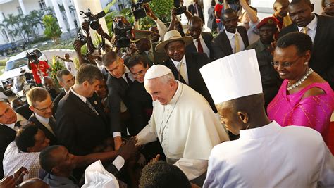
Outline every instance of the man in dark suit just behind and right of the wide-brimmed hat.
POLYGON ((203 21, 198 16, 194 16, 188 21, 188 31, 192 36, 193 42, 185 48, 186 53, 204 53, 211 61, 214 60, 214 51, 212 50, 212 35, 210 32, 202 32, 203 21))

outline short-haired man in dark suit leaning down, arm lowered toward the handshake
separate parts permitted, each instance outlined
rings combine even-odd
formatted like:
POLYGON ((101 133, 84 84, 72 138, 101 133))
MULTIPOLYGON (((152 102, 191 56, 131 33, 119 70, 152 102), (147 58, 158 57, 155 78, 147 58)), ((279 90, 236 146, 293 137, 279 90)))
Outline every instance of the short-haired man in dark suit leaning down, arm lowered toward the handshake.
POLYGON ((109 51, 104 54, 102 62, 109 72, 108 80, 106 81, 110 109, 109 118, 111 120, 109 127, 113 133, 115 149, 118 149, 122 144, 121 134, 126 134, 125 125, 130 124, 129 119, 125 117, 126 110, 121 107, 123 107, 123 104, 128 106, 126 93, 134 79, 123 59, 116 52, 109 51))

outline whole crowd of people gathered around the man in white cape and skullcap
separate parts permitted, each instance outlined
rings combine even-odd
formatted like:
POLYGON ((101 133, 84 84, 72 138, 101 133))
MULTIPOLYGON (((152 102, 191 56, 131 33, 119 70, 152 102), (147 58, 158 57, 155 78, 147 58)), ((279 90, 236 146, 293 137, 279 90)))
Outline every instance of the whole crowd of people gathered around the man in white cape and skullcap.
POLYGON ((212 0, 212 32, 197 0, 187 28, 142 6, 156 26, 136 20, 127 47, 101 27, 110 44, 94 46, 84 22, 78 68, 57 56, 53 80, 30 62, 27 103, 0 100, 1 188, 334 186, 333 0, 323 15, 276 0, 262 20, 247 0, 212 0))

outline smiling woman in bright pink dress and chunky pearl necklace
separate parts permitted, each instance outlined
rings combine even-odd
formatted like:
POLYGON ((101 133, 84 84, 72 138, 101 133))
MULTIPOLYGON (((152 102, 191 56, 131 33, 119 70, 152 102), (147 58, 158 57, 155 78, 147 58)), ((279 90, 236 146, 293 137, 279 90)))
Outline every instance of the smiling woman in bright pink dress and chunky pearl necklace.
POLYGON ((269 119, 283 127, 311 127, 327 143, 334 95, 328 82, 309 68, 311 48, 311 38, 302 32, 292 32, 278 40, 272 65, 284 81, 267 113, 269 119))

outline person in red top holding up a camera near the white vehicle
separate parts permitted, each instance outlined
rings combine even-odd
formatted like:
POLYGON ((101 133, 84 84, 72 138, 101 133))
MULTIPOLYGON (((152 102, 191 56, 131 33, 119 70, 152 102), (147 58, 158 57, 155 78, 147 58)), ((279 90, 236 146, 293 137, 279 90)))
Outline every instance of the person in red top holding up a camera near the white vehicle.
POLYGON ((35 51, 27 52, 28 68, 32 71, 34 80, 39 87, 42 87, 42 78, 48 76, 51 68, 46 61, 40 61, 35 51))

